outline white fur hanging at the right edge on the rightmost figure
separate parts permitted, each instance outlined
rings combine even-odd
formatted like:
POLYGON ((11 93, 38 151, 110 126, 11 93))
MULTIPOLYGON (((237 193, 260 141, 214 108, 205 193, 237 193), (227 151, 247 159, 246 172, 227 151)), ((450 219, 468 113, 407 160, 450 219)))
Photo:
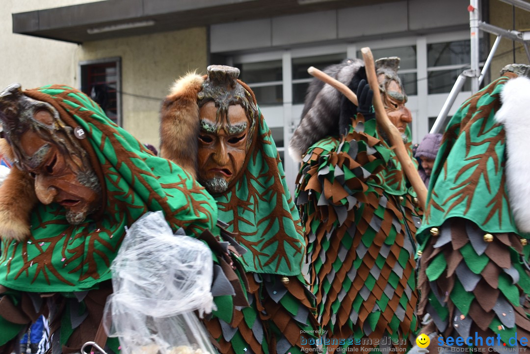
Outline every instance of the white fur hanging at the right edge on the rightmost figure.
POLYGON ((501 92, 502 106, 495 120, 506 131, 506 186, 511 211, 520 232, 530 232, 530 80, 517 77, 509 80, 501 92))

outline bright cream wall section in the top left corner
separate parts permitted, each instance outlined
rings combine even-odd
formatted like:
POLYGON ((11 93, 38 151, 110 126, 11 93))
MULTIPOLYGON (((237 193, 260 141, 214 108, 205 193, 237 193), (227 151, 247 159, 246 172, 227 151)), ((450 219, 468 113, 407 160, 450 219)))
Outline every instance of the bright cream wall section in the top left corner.
POLYGON ((12 13, 76 5, 97 0, 3 0, 0 11, 0 89, 12 83, 32 88, 52 83, 74 85, 77 44, 14 34, 12 13))

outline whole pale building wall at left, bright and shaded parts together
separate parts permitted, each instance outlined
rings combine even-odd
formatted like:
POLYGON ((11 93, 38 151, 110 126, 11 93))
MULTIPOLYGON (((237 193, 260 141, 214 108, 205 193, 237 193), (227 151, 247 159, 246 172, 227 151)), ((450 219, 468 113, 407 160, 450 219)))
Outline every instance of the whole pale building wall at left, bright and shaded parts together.
POLYGON ((13 33, 12 13, 95 1, 98 0, 3 0, 0 90, 15 82, 22 88, 48 84, 79 88, 80 62, 120 57, 123 128, 140 141, 158 147, 161 101, 176 78, 190 70, 206 70, 207 30, 193 28, 82 45, 13 33))

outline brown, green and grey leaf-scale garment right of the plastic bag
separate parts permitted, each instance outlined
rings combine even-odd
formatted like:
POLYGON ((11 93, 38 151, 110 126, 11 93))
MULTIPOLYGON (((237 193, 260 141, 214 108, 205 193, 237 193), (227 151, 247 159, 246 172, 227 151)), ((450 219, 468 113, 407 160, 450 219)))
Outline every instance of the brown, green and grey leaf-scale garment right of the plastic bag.
POLYGON ((217 310, 204 323, 221 353, 302 353, 316 348, 314 296, 302 275, 245 272, 244 249, 222 229, 222 241, 201 235, 214 253, 211 292, 217 310))

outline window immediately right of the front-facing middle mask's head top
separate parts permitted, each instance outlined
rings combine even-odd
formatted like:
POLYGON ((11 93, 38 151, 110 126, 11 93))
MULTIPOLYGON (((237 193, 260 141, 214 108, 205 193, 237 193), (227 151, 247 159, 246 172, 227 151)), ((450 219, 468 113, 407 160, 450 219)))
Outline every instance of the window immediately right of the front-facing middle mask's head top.
POLYGON ((252 89, 261 106, 284 102, 281 60, 236 63, 240 79, 252 89))

